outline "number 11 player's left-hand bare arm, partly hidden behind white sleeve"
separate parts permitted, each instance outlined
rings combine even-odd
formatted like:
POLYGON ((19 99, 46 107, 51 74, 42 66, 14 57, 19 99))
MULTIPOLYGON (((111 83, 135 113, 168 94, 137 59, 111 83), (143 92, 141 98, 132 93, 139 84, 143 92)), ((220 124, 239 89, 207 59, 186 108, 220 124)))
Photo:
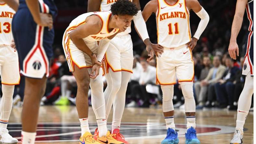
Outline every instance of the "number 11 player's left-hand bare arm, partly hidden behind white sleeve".
MULTIPOLYGON (((147 21, 147 19, 151 16, 152 13, 156 13, 158 9, 158 2, 157 0, 151 0, 147 3, 147 5, 144 7, 143 11, 142 11, 142 16, 145 20, 145 22, 147 21)), ((159 44, 152 44, 152 49, 154 50, 154 53, 156 54, 156 56, 158 57, 158 54, 162 54, 163 53, 163 47, 159 44)))

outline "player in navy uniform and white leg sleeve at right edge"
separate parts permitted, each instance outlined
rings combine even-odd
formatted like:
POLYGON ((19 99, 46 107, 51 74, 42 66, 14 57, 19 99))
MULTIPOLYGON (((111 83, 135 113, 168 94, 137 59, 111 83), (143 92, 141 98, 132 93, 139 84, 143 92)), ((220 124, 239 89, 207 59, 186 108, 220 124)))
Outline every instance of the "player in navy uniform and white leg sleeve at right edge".
POLYGON ((244 88, 238 100, 237 108, 237 126, 234 137, 230 144, 241 144, 243 139, 243 128, 247 114, 251 106, 253 94, 253 0, 237 0, 236 12, 231 29, 231 38, 228 52, 231 58, 236 59, 239 54, 237 45, 237 35, 241 29, 244 11, 247 12, 249 20, 248 36, 246 43, 246 54, 244 57, 244 66, 242 74, 246 76, 244 88))

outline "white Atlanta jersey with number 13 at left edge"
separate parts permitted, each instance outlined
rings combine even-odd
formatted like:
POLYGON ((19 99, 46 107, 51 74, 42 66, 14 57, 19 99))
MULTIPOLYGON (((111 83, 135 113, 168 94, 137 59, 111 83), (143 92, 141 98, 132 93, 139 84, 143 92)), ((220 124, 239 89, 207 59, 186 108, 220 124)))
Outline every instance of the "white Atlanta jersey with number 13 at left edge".
POLYGON ((0 4, 0 46, 11 45, 13 40, 11 24, 15 11, 7 4, 0 4))

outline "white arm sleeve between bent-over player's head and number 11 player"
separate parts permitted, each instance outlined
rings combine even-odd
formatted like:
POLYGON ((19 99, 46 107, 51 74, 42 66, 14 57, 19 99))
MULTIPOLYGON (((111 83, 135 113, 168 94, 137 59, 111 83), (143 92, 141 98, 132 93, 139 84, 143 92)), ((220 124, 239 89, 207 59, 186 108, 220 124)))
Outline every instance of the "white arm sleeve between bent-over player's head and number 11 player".
POLYGON ((149 38, 147 33, 147 26, 145 20, 143 19, 141 10, 138 11, 136 16, 133 16, 134 25, 141 36, 141 39, 144 41, 149 38))

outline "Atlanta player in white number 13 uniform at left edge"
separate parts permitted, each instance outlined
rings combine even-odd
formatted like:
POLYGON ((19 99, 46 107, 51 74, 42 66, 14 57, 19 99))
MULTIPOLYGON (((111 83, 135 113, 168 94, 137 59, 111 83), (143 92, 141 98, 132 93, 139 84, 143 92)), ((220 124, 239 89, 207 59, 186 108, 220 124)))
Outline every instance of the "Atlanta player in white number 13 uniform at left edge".
POLYGON ((18 140, 12 138, 6 129, 12 109, 14 85, 18 85, 20 80, 18 52, 11 30, 14 14, 15 11, 0 0, 0 72, 3 92, 0 103, 0 134, 1 142, 4 143, 18 143, 18 140))

